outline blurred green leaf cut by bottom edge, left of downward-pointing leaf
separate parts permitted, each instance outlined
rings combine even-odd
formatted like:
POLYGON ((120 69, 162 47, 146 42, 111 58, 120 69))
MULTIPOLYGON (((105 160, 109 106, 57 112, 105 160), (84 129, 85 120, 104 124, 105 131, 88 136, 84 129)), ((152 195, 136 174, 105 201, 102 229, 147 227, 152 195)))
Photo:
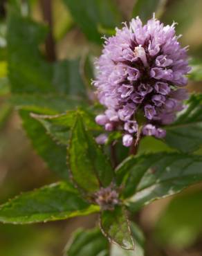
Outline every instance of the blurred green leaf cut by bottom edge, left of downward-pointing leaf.
POLYGON ((77 230, 66 247, 67 256, 109 256, 109 243, 98 228, 77 230))

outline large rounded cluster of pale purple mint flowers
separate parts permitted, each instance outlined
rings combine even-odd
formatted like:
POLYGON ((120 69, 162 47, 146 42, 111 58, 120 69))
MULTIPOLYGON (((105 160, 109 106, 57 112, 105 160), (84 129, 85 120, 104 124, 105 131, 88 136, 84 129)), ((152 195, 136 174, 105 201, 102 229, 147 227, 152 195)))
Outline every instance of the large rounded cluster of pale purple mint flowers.
POLYGON ((138 133, 163 138, 162 127, 183 109, 187 92, 182 87, 190 67, 187 47, 179 44, 174 26, 164 26, 155 18, 143 26, 136 17, 105 39, 95 62, 98 72, 93 84, 107 108, 95 120, 107 131, 121 129, 127 147, 138 133), (141 124, 138 116, 144 120, 141 124))

